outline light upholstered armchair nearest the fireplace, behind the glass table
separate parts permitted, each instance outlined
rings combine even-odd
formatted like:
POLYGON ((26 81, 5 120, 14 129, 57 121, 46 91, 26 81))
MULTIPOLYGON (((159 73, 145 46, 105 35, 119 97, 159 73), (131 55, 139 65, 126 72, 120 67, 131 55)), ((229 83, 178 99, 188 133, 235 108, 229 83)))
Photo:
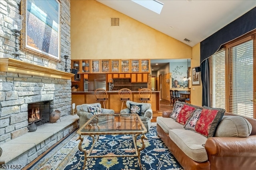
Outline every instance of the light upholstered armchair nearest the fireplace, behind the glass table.
POLYGON ((89 106, 100 107, 103 114, 114 114, 115 113, 113 109, 101 108, 100 103, 77 105, 76 106, 76 110, 77 110, 76 114, 79 116, 80 127, 82 127, 93 116, 93 113, 88 112, 89 106))

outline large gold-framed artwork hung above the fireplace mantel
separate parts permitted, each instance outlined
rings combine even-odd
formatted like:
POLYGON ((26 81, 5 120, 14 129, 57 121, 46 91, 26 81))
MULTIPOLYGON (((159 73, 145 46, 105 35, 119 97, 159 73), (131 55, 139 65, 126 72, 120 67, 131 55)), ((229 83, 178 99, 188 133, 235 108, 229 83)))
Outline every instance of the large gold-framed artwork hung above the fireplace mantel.
POLYGON ((59 0, 22 0, 21 49, 60 62, 59 0))

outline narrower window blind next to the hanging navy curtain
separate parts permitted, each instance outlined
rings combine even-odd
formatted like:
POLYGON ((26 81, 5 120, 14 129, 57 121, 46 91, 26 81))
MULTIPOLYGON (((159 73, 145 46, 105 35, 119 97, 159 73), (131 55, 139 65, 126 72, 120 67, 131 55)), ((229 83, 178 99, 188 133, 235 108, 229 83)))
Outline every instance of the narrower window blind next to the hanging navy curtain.
POLYGON ((210 106, 225 109, 225 50, 210 57, 210 89, 210 106))

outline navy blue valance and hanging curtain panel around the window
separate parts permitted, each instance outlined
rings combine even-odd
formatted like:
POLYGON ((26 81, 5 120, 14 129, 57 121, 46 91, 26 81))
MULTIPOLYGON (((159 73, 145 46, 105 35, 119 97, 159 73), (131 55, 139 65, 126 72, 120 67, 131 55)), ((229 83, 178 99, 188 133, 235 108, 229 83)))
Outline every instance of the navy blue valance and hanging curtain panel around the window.
POLYGON ((210 106, 210 67, 208 58, 221 45, 256 29, 256 7, 200 42, 202 105, 210 106))

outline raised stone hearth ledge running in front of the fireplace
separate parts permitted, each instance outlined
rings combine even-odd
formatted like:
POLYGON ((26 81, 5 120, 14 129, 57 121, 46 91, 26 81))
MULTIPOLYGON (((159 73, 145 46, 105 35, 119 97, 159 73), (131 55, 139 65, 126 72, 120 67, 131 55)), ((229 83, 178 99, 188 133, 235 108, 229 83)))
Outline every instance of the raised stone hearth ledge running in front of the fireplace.
POLYGON ((78 115, 66 115, 60 117, 55 123, 45 123, 38 126, 34 132, 28 132, 1 144, 3 153, 0 162, 8 165, 20 164, 23 168, 60 139, 77 129, 78 121, 78 115))

